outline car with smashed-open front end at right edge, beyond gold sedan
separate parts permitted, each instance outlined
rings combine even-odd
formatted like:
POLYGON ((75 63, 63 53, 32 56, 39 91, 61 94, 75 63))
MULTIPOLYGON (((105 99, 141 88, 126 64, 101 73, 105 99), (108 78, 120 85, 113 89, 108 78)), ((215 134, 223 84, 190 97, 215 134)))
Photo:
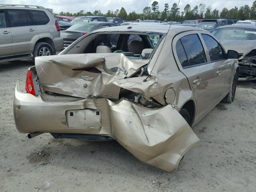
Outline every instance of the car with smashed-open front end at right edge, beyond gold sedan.
POLYGON ((256 25, 222 26, 212 34, 220 40, 224 48, 239 53, 239 80, 256 80, 256 25))

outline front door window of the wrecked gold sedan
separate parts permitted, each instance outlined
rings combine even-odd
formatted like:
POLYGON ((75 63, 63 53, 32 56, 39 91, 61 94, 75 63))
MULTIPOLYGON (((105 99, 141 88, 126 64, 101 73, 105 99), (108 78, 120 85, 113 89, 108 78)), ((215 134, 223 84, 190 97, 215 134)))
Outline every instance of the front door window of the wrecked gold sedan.
POLYGON ((218 42, 209 35, 202 34, 206 47, 209 51, 211 61, 224 59, 224 52, 218 42))

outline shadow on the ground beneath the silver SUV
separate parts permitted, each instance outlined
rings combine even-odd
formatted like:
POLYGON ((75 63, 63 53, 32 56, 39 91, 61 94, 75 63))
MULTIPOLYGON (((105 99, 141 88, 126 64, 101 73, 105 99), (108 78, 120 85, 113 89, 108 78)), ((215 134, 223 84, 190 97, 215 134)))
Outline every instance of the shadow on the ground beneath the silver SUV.
POLYGON ((31 59, 31 60, 17 60, 17 61, 11 61, 11 62, 2 62, 0 63, 0 72, 24 68, 24 66, 27 66, 27 67, 34 66, 34 61, 31 59))

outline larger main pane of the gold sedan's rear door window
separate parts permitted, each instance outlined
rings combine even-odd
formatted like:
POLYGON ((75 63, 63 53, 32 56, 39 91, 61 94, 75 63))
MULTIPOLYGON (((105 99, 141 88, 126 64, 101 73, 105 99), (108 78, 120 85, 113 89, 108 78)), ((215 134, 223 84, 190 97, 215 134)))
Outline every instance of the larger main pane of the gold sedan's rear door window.
POLYGON ((204 48, 197 34, 180 38, 190 66, 206 63, 204 48))

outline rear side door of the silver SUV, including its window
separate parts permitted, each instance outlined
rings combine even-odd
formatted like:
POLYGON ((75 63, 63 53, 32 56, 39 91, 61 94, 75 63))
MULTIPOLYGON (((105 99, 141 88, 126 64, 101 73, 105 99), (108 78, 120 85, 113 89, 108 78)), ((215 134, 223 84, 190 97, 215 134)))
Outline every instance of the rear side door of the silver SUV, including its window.
POLYGON ((15 55, 31 54, 34 49, 32 38, 37 34, 26 10, 7 10, 12 32, 15 55))

